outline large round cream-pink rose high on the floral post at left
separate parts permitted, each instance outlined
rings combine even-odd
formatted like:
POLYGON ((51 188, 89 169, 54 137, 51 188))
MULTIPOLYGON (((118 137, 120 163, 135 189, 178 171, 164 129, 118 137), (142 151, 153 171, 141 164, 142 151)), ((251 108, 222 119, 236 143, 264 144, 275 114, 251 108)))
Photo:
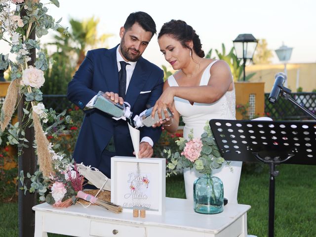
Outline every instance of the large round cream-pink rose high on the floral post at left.
POLYGON ((22 82, 24 85, 40 88, 45 82, 44 72, 30 66, 23 71, 22 82))

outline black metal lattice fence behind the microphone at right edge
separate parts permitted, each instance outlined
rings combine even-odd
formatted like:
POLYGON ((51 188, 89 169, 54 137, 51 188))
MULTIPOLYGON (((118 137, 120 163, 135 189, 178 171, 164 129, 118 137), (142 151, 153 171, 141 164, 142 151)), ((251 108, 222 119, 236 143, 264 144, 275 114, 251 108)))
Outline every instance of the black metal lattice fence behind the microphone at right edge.
MULTIPOLYGON (((283 97, 278 97, 275 104, 269 102, 270 93, 265 93, 265 113, 274 120, 308 120, 311 116, 304 113, 299 107, 283 97)), ((316 93, 298 92, 291 93, 291 97, 300 105, 316 113, 316 93)))

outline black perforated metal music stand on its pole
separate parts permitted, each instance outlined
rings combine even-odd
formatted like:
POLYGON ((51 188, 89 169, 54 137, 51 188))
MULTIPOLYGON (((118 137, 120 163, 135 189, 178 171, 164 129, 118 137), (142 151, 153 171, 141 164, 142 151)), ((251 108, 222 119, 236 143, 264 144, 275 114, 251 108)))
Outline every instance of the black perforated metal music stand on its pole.
POLYGON ((316 165, 316 121, 212 119, 209 125, 226 160, 269 164, 269 237, 273 237, 276 164, 316 165))

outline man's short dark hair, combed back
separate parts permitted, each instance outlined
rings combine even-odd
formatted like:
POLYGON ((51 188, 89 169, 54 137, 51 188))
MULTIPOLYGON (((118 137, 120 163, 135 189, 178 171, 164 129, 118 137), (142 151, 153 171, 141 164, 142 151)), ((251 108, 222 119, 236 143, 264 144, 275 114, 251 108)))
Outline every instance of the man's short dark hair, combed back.
POLYGON ((143 11, 130 13, 127 17, 124 28, 129 30, 135 23, 138 23, 145 31, 152 33, 152 38, 156 34, 156 24, 153 18, 143 11))

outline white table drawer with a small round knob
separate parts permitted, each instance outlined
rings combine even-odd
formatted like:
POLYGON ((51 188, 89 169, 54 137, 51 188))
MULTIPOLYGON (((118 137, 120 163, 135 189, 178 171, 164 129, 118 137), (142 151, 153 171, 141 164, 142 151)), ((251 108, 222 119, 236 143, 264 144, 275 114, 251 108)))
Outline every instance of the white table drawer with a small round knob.
POLYGON ((145 237, 145 228, 101 221, 90 222, 90 236, 96 237, 145 237))

